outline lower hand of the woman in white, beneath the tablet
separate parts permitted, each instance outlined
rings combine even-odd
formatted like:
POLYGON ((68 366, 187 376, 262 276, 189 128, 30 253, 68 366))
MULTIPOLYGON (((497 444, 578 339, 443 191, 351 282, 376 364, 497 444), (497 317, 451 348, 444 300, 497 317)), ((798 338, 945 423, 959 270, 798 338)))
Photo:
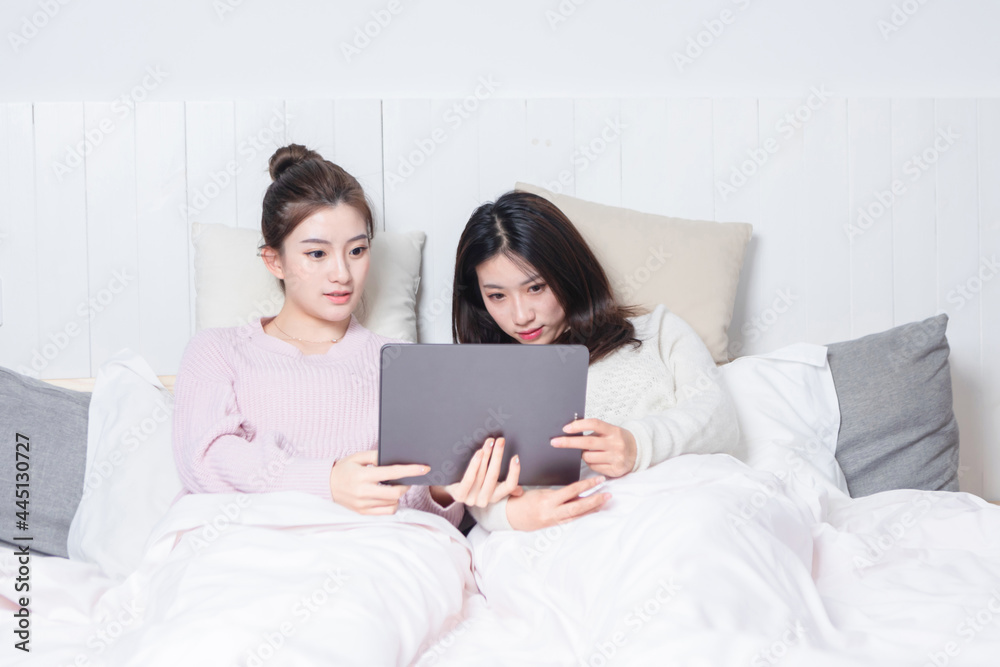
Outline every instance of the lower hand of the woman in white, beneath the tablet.
POLYGON ((507 499, 507 521, 515 530, 538 530, 596 512, 611 500, 610 493, 578 496, 603 481, 603 477, 591 477, 558 489, 532 489, 511 496, 507 499))

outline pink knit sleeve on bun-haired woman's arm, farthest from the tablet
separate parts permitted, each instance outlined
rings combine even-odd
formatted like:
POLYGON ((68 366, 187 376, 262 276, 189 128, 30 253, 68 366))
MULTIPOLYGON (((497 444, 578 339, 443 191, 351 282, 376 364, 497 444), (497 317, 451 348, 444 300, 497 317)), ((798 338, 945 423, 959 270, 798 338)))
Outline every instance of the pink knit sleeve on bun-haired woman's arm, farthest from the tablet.
POLYGON ((330 496, 334 458, 296 456, 281 433, 254 432, 240 414, 220 330, 188 343, 174 385, 173 444, 177 472, 194 493, 298 490, 330 496))

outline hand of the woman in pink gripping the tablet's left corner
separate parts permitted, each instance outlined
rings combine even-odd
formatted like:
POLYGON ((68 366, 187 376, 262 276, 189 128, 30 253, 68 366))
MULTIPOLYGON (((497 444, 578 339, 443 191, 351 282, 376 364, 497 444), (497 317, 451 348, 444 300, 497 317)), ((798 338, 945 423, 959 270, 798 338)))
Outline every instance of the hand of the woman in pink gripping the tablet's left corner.
POLYGON ((405 484, 380 484, 392 479, 418 477, 430 466, 378 465, 378 451, 371 449, 338 460, 330 470, 330 495, 334 502, 360 514, 394 514, 399 499, 410 490, 405 484))

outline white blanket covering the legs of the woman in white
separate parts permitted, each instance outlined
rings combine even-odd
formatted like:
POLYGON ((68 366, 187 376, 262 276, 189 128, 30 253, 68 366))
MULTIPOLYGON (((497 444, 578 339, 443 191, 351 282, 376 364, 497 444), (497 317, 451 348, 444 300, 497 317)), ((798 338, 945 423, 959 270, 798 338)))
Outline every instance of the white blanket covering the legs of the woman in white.
POLYGON ((851 500, 782 461, 682 456, 611 482, 578 521, 474 529, 488 603, 417 664, 998 664, 1000 508, 851 500))

